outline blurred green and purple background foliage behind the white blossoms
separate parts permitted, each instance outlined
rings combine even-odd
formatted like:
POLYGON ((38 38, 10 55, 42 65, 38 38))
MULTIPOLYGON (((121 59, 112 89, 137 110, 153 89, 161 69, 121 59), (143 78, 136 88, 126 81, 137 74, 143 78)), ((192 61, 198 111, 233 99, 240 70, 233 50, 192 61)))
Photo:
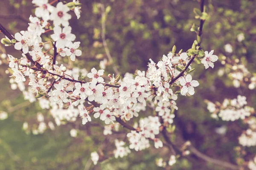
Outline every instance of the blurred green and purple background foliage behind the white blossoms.
MULTIPOLYGON (((114 63, 122 75, 126 72, 134 73, 136 69, 146 70, 148 59, 157 62, 163 54, 172 50, 173 45, 176 45, 177 51, 186 51, 196 39, 195 33, 190 31, 193 23, 199 25, 193 14, 193 8, 199 8, 196 0, 80 2, 81 18, 76 20, 73 15, 73 20, 70 20, 76 40, 81 41, 82 55, 74 63, 80 68, 99 68, 99 62, 107 58, 102 45, 99 3, 109 10, 106 17, 106 39, 114 63)), ((256 1, 206 0, 206 5, 209 18, 204 24, 201 46, 204 51, 214 50, 219 62, 216 62, 214 69, 207 71, 204 70, 204 65, 196 65, 193 79, 197 79, 200 86, 194 96, 180 96, 177 100, 179 110, 174 119, 176 133, 181 134, 185 140, 190 140, 201 152, 235 164, 241 158, 234 147, 238 146, 237 137, 246 127, 239 121, 222 122, 212 119, 204 99, 222 102, 224 98, 233 99, 242 94, 247 96, 248 105, 255 108, 255 91, 243 87, 234 88, 227 75, 220 77, 217 73, 221 68, 228 69, 225 62, 222 62, 225 57, 239 59, 238 62, 246 65, 249 71, 256 71, 256 1), (241 42, 237 40, 240 33, 245 37, 241 42), (225 51, 226 44, 232 46, 232 53, 225 51), (227 133, 216 133, 216 128, 223 125, 227 127, 227 133)), ((1 0, 0 23, 12 34, 26 30, 33 10, 30 0, 1 0)), ((44 37, 45 40, 47 38, 49 36, 44 37)), ((12 47, 5 49, 7 54, 17 58, 21 56, 20 51, 15 51, 12 47)), ((66 62, 69 63, 68 60, 66 62)), ((0 68, 0 110, 6 111, 9 116, 0 121, 0 170, 161 169, 156 167, 155 159, 168 155, 168 150, 161 153, 154 149, 143 152, 133 150, 128 157, 110 158, 93 166, 90 153, 105 143, 114 148, 113 139, 103 136, 102 129, 90 124, 79 130, 78 137, 72 138, 70 129, 81 125, 80 120, 75 127, 72 124, 61 125, 39 135, 22 130, 23 122, 28 122, 31 128, 38 125, 38 112, 43 113, 47 120, 52 118, 47 111, 41 110, 38 103, 30 104, 18 90, 10 88, 9 75, 5 74, 7 66, 3 64, 0 68)), ((72 67, 71 64, 69 66, 72 67)), ((113 73, 111 65, 105 70, 113 73)), ((251 147, 247 151, 246 159, 249 159, 256 148, 251 147)), ((220 167, 207 164, 196 157, 180 159, 172 167, 172 170, 206 169, 221 170, 220 167)))

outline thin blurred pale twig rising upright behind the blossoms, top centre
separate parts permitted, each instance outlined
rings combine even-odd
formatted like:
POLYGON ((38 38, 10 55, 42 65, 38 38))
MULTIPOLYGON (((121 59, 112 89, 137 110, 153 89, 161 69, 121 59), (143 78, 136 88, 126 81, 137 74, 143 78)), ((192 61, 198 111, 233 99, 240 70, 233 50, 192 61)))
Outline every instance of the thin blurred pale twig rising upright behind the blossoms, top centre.
POLYGON ((104 4, 101 5, 101 8, 102 8, 102 42, 103 42, 103 46, 104 46, 105 52, 107 54, 108 60, 111 62, 111 65, 113 66, 113 69, 114 69, 115 73, 117 75, 119 75, 120 72, 118 71, 118 69, 116 68, 116 65, 114 64, 113 58, 112 58, 112 56, 109 52, 108 44, 107 44, 107 41, 106 41, 106 36, 105 36, 105 32, 106 32, 106 14, 105 14, 104 4))

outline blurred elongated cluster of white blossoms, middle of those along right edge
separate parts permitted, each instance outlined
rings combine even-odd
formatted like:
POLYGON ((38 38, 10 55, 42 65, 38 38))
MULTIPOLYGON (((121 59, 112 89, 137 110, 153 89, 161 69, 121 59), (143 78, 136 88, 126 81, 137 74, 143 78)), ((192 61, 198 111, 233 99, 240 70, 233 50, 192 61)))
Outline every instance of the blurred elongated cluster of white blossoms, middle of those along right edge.
POLYGON ((224 121, 235 121, 245 119, 254 112, 253 108, 246 105, 246 97, 238 95, 236 99, 224 99, 221 105, 208 102, 207 109, 212 113, 213 118, 217 118, 218 114, 224 121))

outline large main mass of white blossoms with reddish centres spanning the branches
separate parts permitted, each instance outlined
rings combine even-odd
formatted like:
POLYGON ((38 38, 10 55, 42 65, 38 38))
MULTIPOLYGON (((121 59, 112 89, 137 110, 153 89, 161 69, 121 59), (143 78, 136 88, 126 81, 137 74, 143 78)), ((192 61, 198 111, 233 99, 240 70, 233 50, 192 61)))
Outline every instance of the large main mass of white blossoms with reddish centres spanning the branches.
MULTIPOLYGON (((80 17, 79 1, 59 2, 56 7, 48 0, 32 0, 32 3, 37 7, 35 17, 29 18, 27 31, 16 33, 13 40, 5 40, 23 51, 20 59, 8 55, 12 88, 19 88, 25 99, 38 101, 42 109, 49 110, 57 126, 76 121, 80 116, 83 125, 91 121, 103 124, 105 135, 112 134, 113 127, 138 117, 149 106, 157 116, 140 119, 140 127, 130 129, 127 134, 129 148, 144 150, 150 146, 150 141, 156 148, 163 147, 163 142, 156 138, 161 122, 164 126, 172 124, 175 118, 173 111, 178 109, 175 102, 178 95, 191 96, 199 85, 190 75, 195 70, 190 64, 197 55, 189 51, 170 52, 157 63, 150 59, 147 71, 137 70, 135 74, 125 74, 124 78, 120 75, 104 76, 105 71, 96 68, 89 73, 85 69, 67 68, 66 63, 56 59, 60 55, 75 61, 81 56, 80 42, 74 42, 76 36, 69 25, 70 11, 75 11, 77 18, 80 17), (49 34, 52 41, 42 42, 42 34, 49 34), (49 51, 53 54, 50 55, 49 51), (24 83, 26 81, 28 83, 24 83)), ((203 55, 205 67, 213 68, 218 57, 213 55, 213 51, 205 51, 203 55)), ((41 121, 35 133, 44 132, 48 126, 54 129, 53 123, 47 126, 42 116, 39 118, 41 121)), ((71 130, 70 135, 76 137, 77 131, 71 130)), ((124 145, 123 141, 116 140, 116 158, 130 153, 124 145)), ((94 152, 91 156, 96 164, 99 155, 94 152)), ((169 164, 174 163, 175 157, 171 157, 169 164)))

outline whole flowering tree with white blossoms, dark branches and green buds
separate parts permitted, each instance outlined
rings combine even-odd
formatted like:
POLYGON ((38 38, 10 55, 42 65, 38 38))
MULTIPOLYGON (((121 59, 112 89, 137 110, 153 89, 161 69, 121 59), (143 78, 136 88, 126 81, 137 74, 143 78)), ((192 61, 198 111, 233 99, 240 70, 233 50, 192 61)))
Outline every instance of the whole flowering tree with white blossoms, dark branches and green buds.
MULTIPOLYGON (((33 130, 34 134, 44 133, 47 128, 54 129, 55 125, 70 124, 73 125, 70 135, 75 137, 77 130, 86 128, 88 124, 99 127, 106 138, 101 147, 91 153, 91 160, 95 165, 111 157, 122 158, 131 152, 155 147, 158 150, 169 150, 165 157, 157 159, 157 166, 160 167, 172 166, 183 157, 197 156, 227 169, 255 169, 256 161, 253 159, 233 164, 199 152, 186 139, 180 139, 182 143, 176 143, 172 139, 172 136, 178 135, 178 129, 182 129, 174 125, 175 120, 178 121, 177 110, 182 107, 182 103, 179 105, 175 101, 178 96, 194 95, 199 86, 199 82, 191 76, 196 69, 196 65, 192 63, 202 63, 205 69, 210 69, 209 67, 214 68, 214 62, 218 60, 213 50, 208 52, 201 48, 201 34, 204 22, 208 19, 204 0, 200 1, 200 9, 193 10, 199 26, 193 24, 190 29, 196 34, 196 40, 190 49, 176 52, 176 47, 173 46, 172 51, 163 55, 160 61, 150 59, 148 70, 136 70, 134 74, 127 73, 123 78, 113 62, 105 38, 105 22, 111 10, 109 6, 105 8, 103 4, 99 4, 103 46, 115 72, 106 75, 103 69, 91 68, 87 73, 84 68, 69 65, 82 54, 80 42, 76 42, 76 35, 72 34, 72 30, 76 28, 72 29, 69 23, 72 11, 77 19, 81 17, 79 1, 63 3, 53 0, 48 3, 48 0, 32 0, 32 3, 36 6, 35 17, 29 17, 30 23, 26 31, 12 36, 1 24, 0 31, 6 36, 1 40, 4 45, 13 45, 16 50, 22 51, 22 57, 8 54, 12 85, 20 88, 25 99, 39 102, 40 107, 48 110, 54 119, 54 122, 45 120, 42 114, 38 114, 37 120, 40 123, 33 130), (49 37, 47 41, 42 38, 45 35, 49 37), (66 58, 69 59, 68 63, 65 62, 66 58), (112 136, 111 139, 114 140, 108 139, 108 136, 112 136), (111 147, 108 143, 111 143, 111 147)), ((230 51, 229 45, 225 48, 230 51)), ((235 87, 243 84, 243 75, 246 75, 251 80, 249 88, 255 88, 255 77, 246 68, 237 65, 233 70, 235 71, 230 71, 230 75, 235 87)), ((242 146, 256 145, 255 119, 250 116, 254 110, 247 106, 245 96, 225 99, 223 104, 207 103, 215 119, 244 119, 249 128, 241 134, 239 143, 242 146)), ((25 129, 28 126, 24 123, 25 129)))

